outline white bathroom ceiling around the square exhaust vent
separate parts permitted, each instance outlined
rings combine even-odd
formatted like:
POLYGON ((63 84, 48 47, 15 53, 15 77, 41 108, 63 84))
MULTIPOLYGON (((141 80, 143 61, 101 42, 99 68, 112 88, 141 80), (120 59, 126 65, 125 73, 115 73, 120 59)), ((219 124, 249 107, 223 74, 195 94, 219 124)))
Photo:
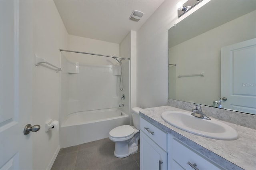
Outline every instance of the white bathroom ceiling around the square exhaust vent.
POLYGON ((68 34, 120 43, 137 31, 164 0, 54 0, 68 34), (139 22, 133 10, 144 12, 139 22))

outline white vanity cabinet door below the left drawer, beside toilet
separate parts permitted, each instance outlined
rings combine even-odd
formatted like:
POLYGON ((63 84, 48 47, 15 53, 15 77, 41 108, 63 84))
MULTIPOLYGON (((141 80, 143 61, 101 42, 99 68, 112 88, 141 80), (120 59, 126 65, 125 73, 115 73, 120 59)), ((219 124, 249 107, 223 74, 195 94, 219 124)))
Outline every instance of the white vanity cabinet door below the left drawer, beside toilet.
POLYGON ((167 152, 140 132, 140 170, 167 170, 167 152))

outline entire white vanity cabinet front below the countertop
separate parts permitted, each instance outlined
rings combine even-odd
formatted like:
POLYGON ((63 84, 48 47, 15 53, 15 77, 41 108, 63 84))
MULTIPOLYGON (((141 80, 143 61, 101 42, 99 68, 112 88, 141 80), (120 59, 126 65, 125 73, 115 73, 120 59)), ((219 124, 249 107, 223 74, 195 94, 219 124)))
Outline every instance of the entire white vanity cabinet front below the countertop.
POLYGON ((167 169, 224 170, 172 134, 140 118, 140 170, 167 169))

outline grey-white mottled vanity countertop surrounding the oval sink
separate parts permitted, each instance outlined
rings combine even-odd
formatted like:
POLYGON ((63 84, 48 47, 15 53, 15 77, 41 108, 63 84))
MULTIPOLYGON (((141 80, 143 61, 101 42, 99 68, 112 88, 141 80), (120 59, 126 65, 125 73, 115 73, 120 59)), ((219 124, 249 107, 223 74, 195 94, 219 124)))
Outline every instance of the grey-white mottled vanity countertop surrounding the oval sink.
MULTIPOLYGON (((237 130, 236 140, 216 140, 192 134, 166 123, 161 114, 164 111, 184 111, 170 106, 154 107, 140 110, 140 115, 153 125, 174 134, 195 150, 227 169, 256 169, 256 130, 240 125, 226 123, 237 130), (185 138, 184 138, 184 137, 185 138), (196 144, 196 145, 195 145, 196 144), (211 151, 211 152, 209 152, 211 151), (223 159, 224 158, 224 159, 223 159)), ((191 112, 188 112, 190 114, 191 112)), ((210 116, 209 116, 210 117, 210 116)), ((219 120, 220 121, 220 120, 219 120)))

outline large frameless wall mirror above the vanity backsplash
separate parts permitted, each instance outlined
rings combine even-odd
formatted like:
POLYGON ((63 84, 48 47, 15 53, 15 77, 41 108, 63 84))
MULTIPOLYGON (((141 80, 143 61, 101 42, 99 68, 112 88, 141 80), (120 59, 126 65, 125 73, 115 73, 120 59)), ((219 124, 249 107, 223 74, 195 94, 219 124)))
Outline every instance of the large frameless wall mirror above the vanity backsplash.
POLYGON ((211 0, 168 36, 169 99, 256 114, 255 0, 211 0))

